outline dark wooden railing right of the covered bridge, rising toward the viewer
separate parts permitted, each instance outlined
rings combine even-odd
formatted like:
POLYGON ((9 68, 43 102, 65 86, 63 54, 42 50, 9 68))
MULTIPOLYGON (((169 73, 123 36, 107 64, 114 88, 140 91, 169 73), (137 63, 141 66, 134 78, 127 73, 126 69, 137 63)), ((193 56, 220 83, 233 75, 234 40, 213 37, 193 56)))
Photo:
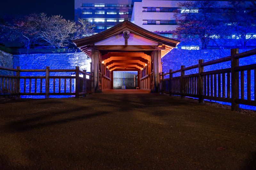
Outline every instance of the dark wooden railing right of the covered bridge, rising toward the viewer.
POLYGON ((238 111, 239 104, 256 106, 256 63, 239 66, 239 58, 256 55, 256 49, 238 53, 238 49, 231 49, 231 55, 217 60, 205 62, 199 60, 198 64, 180 70, 169 70, 168 73, 160 74, 160 91, 170 95, 180 95, 198 98, 199 102, 204 99, 231 103, 231 110, 238 111), (204 72, 204 67, 231 61, 230 68, 204 72), (197 69, 198 73, 185 75, 186 70, 197 69), (254 100, 251 100, 251 70, 254 70, 254 100), (244 99, 244 71, 247 71, 247 100, 244 99), (174 73, 180 72, 180 76, 173 77, 174 73), (241 78, 239 81, 239 72, 241 78), (169 75, 169 78, 164 78, 169 75), (222 84, 222 87, 221 87, 222 84), (239 86, 241 97, 239 98, 239 86), (231 93, 231 95, 230 95, 231 93))

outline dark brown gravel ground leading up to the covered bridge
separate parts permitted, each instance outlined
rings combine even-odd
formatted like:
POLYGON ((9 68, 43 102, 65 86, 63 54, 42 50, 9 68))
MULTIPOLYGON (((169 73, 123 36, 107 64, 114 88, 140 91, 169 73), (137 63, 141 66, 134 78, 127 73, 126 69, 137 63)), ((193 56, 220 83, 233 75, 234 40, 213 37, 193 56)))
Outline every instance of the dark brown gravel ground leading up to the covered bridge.
POLYGON ((256 117, 168 95, 0 104, 0 169, 256 169, 256 117))

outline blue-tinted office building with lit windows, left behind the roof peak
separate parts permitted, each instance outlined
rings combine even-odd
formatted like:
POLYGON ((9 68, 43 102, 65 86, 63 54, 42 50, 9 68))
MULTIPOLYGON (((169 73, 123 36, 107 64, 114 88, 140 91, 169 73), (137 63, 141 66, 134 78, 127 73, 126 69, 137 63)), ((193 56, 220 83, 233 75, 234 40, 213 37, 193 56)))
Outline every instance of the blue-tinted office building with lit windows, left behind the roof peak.
POLYGON ((94 32, 100 33, 124 18, 131 20, 133 3, 134 0, 75 0, 75 21, 88 20, 95 25, 94 32))

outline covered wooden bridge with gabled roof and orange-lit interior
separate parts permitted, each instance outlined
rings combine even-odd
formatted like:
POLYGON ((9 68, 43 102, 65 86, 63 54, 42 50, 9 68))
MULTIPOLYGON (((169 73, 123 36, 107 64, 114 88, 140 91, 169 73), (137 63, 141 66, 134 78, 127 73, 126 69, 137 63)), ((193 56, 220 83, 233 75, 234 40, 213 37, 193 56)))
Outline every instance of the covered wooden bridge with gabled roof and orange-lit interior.
POLYGON ((180 41, 149 32, 125 20, 73 43, 92 58, 93 92, 113 89, 113 71, 137 71, 138 87, 158 92, 161 58, 180 41))

